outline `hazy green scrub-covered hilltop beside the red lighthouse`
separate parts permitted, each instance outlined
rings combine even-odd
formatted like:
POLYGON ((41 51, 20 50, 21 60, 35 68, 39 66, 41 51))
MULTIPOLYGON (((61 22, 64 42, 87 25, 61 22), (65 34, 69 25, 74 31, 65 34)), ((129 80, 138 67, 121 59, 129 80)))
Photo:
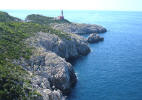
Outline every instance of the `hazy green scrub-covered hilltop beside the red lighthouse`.
POLYGON ((37 15, 37 14, 32 14, 27 16, 26 20, 34 22, 34 23, 38 23, 38 24, 44 24, 44 25, 49 25, 51 23, 71 23, 68 20, 64 19, 64 20, 56 20, 53 17, 46 17, 46 16, 42 16, 42 15, 37 15))

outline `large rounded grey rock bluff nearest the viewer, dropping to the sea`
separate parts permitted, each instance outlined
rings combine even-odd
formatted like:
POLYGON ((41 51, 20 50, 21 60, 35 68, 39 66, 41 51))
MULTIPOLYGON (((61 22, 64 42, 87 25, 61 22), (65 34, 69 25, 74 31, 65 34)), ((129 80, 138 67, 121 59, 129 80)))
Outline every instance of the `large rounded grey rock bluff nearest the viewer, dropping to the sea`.
POLYGON ((76 76, 71 64, 53 52, 42 51, 39 56, 34 56, 31 62, 34 63, 36 75, 47 78, 51 87, 55 86, 56 89, 67 93, 76 83, 76 76))

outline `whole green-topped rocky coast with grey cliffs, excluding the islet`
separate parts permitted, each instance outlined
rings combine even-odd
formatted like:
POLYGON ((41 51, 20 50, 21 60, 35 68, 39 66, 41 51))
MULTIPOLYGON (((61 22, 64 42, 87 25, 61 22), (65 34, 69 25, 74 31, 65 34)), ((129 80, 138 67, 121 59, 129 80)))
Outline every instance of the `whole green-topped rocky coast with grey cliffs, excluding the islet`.
POLYGON ((87 39, 77 34, 106 30, 41 15, 22 22, 0 14, 0 99, 65 100, 77 81, 67 60, 90 52, 87 39))

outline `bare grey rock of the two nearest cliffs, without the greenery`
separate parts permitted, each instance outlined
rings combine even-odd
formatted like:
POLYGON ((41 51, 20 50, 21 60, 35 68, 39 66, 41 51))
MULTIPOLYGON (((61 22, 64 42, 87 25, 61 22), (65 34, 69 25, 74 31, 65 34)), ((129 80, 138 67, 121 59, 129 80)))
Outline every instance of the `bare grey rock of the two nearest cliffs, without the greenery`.
POLYGON ((88 54, 87 40, 75 34, 63 38, 39 32, 26 42, 35 50, 31 59, 21 65, 34 74, 31 78, 34 89, 43 100, 65 100, 63 94, 69 93, 77 81, 74 69, 66 59, 88 54))

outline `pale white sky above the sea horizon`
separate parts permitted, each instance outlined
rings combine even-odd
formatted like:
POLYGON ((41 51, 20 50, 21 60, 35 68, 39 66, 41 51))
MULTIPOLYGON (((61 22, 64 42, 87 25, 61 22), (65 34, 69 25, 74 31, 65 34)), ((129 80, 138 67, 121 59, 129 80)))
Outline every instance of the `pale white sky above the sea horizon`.
POLYGON ((142 0, 0 0, 0 10, 142 11, 142 0))

